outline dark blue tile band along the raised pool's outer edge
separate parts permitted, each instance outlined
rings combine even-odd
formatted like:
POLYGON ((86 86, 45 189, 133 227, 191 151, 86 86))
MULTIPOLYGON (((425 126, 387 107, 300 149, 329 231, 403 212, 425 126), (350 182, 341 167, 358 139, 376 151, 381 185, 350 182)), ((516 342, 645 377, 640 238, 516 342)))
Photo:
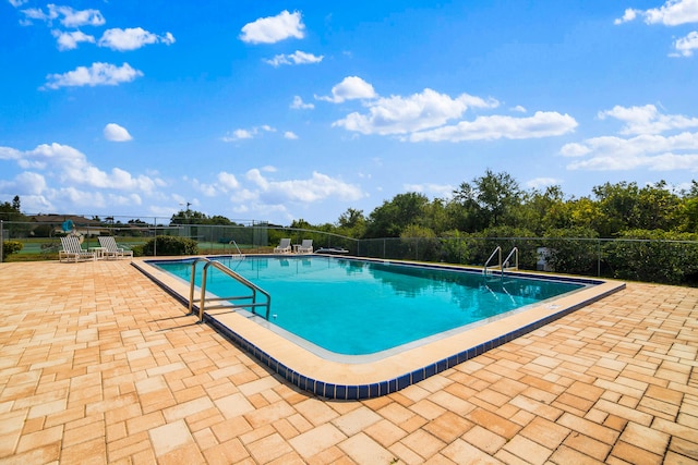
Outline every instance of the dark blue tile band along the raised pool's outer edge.
MULTIPOLYGON (((148 277, 152 281, 158 284, 165 292, 170 294, 177 301, 181 302, 185 307, 189 306, 189 302, 181 296, 179 293, 174 292, 169 286, 165 285, 163 282, 151 276, 146 270, 140 267, 136 262, 131 262, 133 267, 139 269, 143 274, 148 277)), ((412 266, 407 264, 406 266, 412 266)), ((455 267, 454 267, 455 268, 455 267)), ((509 273, 509 274, 518 274, 518 273, 509 273)), ((575 282, 583 282, 588 284, 599 284, 603 281, 593 280, 593 279, 575 279, 567 277, 555 277, 561 281, 575 281, 575 282)), ((551 277, 546 277, 546 279, 551 279, 551 277)), ((224 335, 228 341, 238 345, 241 350, 252 355, 254 358, 260 362, 260 364, 266 366, 272 372, 278 375, 280 378, 285 379, 289 383, 296 386, 297 388, 312 392, 315 395, 326 399, 333 400, 342 400, 342 401, 360 401, 365 399, 374 399, 380 397, 386 394, 390 394, 393 392, 397 392, 401 389, 407 388, 408 386, 414 384, 417 382, 423 381, 424 379, 437 375, 442 371, 445 371, 449 368, 453 368, 456 365, 459 365, 466 360, 474 358, 479 355, 484 354, 488 351, 491 351, 502 344, 510 342, 517 338, 520 338, 524 334, 527 334, 531 331, 534 331, 539 328, 542 328, 552 321, 555 321, 564 316, 567 316, 577 309, 585 307, 593 302, 597 302, 618 290, 625 289, 625 284, 614 290, 601 293, 595 295, 592 298, 589 298, 579 304, 573 305, 570 307, 566 307, 561 309, 559 311, 549 315, 540 320, 533 321, 529 325, 526 325, 519 329, 510 331, 506 334, 498 335, 491 341, 486 341, 482 344, 479 344, 474 347, 469 347, 459 352, 457 354, 450 355, 447 358, 443 358, 435 363, 432 363, 423 368, 418 368, 412 370, 411 372, 407 372, 400 375, 396 378, 390 378, 384 381, 371 383, 371 384, 334 384, 328 383, 323 380, 316 380, 310 377, 306 377, 302 374, 299 374, 291 368, 284 365, 281 362, 275 359, 269 354, 264 352, 262 348, 257 347, 251 341, 248 341, 232 329, 225 326, 222 322, 218 321, 216 318, 210 315, 204 314, 204 322, 210 326, 218 333, 224 335)), ((197 308, 196 308, 197 311, 197 308)))

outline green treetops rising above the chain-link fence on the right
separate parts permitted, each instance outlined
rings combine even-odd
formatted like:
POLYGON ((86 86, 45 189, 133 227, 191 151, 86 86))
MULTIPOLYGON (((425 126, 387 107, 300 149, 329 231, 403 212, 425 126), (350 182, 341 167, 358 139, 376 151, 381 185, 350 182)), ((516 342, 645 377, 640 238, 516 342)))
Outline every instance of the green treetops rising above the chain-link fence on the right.
MULTIPOLYGON (((335 224, 292 227, 330 230, 356 238, 437 237, 491 232, 494 236, 617 238, 638 231, 693 234, 698 227, 698 183, 672 191, 660 181, 605 183, 585 197, 566 197, 559 186, 524 189, 507 173, 488 170, 464 182, 449 199, 398 194, 368 216, 348 209, 335 224)), ((652 236, 655 236, 653 233, 652 236)))

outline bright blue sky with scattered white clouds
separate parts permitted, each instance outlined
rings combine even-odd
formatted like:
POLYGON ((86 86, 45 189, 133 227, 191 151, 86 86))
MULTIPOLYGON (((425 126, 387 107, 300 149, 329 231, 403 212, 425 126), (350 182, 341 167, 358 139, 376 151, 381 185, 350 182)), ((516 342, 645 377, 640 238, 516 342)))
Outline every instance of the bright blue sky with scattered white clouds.
POLYGON ((0 201, 289 224, 698 170, 698 0, 0 0, 0 201))

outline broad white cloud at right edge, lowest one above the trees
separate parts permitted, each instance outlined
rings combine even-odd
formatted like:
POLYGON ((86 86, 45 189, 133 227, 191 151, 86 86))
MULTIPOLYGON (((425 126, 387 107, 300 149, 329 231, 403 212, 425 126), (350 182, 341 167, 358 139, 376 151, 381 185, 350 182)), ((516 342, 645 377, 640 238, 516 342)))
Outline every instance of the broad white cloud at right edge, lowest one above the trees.
POLYGON ((576 157, 570 170, 627 171, 647 168, 652 171, 698 171, 698 133, 672 136, 643 134, 631 138, 593 137, 567 144, 565 157, 576 157))

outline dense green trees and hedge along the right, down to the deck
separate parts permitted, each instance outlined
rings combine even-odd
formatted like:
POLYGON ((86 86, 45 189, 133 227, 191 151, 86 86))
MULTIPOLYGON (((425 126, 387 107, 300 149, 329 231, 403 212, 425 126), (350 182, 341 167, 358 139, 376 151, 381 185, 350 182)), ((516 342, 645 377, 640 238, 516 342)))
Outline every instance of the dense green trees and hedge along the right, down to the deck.
POLYGON ((516 246, 521 268, 537 269, 544 247, 557 272, 698 284, 695 181, 679 192, 664 181, 604 183, 577 198, 559 186, 524 189, 509 174, 488 170, 448 199, 398 194, 368 216, 350 208, 335 224, 299 220, 291 227, 362 240, 398 237, 395 258, 483 265, 496 245, 516 246))

